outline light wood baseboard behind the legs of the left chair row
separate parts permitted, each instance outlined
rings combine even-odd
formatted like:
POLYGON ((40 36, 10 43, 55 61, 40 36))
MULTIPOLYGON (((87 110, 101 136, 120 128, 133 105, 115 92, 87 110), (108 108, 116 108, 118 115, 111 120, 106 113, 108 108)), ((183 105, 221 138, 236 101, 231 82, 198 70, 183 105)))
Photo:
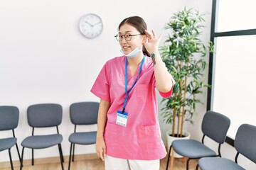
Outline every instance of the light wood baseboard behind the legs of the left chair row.
MULTIPOLYGON (((88 159, 98 159, 97 154, 75 154, 74 161, 88 160, 88 159)), ((68 162, 69 156, 64 156, 64 162, 68 162)), ((53 164, 60 162, 60 157, 47 157, 47 158, 37 158, 34 159, 34 164, 53 164)), ((14 167, 19 167, 20 162, 14 161, 14 167)), ((23 160, 23 166, 31 165, 31 159, 23 160)), ((0 169, 9 168, 10 162, 0 162, 0 169)))

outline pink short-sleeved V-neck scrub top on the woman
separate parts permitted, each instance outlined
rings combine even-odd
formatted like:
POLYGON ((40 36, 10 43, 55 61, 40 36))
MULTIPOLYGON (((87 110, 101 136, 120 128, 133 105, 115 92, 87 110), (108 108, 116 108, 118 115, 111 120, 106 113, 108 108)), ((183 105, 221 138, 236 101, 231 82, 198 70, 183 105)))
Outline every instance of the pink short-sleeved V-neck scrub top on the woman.
MULTIPOLYGON (((107 112, 104 139, 106 154, 122 159, 154 160, 166 156, 164 142, 158 120, 156 101, 156 79, 154 65, 150 57, 145 57, 137 84, 129 94, 125 112, 128 113, 127 126, 117 125, 117 111, 122 111, 125 98, 125 57, 115 57, 105 63, 91 92, 102 100, 110 101, 107 112)), ((127 67, 128 91, 134 84, 139 67, 132 77, 127 67)), ((174 81, 173 81, 174 82, 174 81)), ((171 96, 171 91, 161 93, 171 96)))

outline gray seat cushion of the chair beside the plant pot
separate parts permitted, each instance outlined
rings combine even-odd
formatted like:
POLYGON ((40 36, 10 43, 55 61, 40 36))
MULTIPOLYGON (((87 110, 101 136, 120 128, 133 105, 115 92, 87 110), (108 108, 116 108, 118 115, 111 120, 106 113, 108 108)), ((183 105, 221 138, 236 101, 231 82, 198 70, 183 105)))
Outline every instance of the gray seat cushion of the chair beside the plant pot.
POLYGON ((174 140, 172 147, 177 154, 192 159, 216 156, 212 149, 196 140, 174 140))

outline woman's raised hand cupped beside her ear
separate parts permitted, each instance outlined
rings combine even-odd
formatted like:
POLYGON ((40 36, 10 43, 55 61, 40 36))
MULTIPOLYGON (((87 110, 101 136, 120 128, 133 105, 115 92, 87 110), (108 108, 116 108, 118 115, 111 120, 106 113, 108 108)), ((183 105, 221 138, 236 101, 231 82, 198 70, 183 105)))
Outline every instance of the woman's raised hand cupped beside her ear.
POLYGON ((161 40, 161 36, 157 38, 156 33, 154 33, 154 30, 152 30, 152 33, 150 33, 148 30, 145 30, 146 39, 147 41, 144 43, 144 47, 149 53, 154 53, 158 51, 159 48, 159 42, 161 40))

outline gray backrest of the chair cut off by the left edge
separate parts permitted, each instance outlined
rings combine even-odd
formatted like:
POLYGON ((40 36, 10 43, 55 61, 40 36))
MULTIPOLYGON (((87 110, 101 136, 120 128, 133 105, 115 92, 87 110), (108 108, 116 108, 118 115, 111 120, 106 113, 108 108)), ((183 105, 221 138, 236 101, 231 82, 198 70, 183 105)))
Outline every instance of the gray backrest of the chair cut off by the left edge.
POLYGON ((16 106, 0 106, 0 130, 13 130, 18 126, 19 111, 16 106))

